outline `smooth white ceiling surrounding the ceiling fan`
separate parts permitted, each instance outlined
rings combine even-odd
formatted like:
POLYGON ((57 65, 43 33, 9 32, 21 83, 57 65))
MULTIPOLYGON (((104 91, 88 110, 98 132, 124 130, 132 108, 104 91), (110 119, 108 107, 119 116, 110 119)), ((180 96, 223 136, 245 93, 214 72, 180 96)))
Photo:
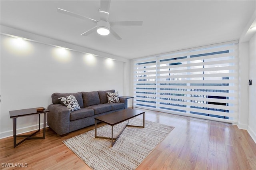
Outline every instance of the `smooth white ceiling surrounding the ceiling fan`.
POLYGON ((100 1, 0 1, 1 25, 80 45, 127 59, 213 43, 239 40, 255 11, 256 1, 111 1, 109 21, 142 20, 143 26, 113 26, 122 40, 58 13, 62 8, 99 20, 100 1))

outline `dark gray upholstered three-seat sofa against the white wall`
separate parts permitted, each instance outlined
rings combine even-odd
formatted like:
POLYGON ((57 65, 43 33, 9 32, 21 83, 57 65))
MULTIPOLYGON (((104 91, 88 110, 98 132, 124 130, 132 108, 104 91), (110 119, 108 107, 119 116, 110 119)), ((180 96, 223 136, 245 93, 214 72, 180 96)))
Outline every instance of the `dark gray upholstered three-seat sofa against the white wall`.
POLYGON ((48 106, 50 112, 47 114, 47 124, 59 136, 65 136, 74 130, 94 125, 94 117, 127 109, 127 99, 119 97, 120 103, 108 103, 106 92, 114 93, 115 90, 53 93, 52 104, 48 106), (70 113, 70 110, 60 103, 58 98, 68 95, 76 97, 81 109, 70 113))

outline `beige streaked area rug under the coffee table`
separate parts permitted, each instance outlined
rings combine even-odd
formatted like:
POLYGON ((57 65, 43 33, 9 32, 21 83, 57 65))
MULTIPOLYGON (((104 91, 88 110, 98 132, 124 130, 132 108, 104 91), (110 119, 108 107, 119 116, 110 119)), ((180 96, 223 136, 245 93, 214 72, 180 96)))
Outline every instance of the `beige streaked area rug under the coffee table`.
MULTIPOLYGON (((126 123, 114 126, 114 137, 126 123)), ((143 120, 130 119, 129 125, 141 126, 143 120)), ((93 170, 134 170, 173 129, 145 120, 145 128, 126 127, 113 147, 111 140, 94 138, 94 130, 62 142, 93 170)), ((97 135, 111 137, 111 126, 97 128, 97 135)))

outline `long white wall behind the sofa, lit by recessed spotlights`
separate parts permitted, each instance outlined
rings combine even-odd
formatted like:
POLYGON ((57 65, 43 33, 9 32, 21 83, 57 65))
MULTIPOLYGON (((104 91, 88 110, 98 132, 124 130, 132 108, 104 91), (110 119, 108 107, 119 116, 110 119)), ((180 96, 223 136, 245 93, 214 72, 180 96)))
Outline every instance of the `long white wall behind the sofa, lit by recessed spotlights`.
MULTIPOLYGON (((124 70, 127 63, 123 61, 6 35, 1 35, 0 59, 0 138, 12 136, 9 111, 47 108, 52 103, 52 93, 115 89, 120 95, 129 95, 125 89, 130 88, 130 77, 124 74, 129 76, 130 71, 124 70)), ((37 115, 17 119, 18 133, 34 130, 37 126, 37 115)))

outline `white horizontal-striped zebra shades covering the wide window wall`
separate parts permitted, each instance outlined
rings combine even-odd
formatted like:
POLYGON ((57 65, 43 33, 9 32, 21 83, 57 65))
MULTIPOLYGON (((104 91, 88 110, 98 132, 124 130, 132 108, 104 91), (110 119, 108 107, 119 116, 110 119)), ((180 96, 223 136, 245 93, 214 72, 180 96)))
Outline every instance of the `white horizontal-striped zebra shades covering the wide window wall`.
POLYGON ((237 122, 234 42, 134 60, 136 107, 237 122))

